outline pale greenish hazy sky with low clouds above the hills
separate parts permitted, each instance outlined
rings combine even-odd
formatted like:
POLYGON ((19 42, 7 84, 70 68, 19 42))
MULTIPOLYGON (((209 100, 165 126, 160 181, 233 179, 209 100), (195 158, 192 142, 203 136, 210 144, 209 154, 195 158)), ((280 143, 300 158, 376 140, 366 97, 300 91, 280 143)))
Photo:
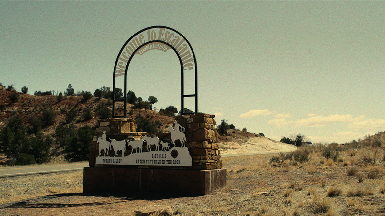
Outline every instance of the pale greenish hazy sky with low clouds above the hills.
MULTIPOLYGON (((124 43, 162 25, 190 42, 218 124, 324 144, 385 131, 385 1, 0 1, 0 20, 0 82, 18 91, 112 88, 124 43)), ((172 50, 135 55, 127 82, 181 108, 172 50)))

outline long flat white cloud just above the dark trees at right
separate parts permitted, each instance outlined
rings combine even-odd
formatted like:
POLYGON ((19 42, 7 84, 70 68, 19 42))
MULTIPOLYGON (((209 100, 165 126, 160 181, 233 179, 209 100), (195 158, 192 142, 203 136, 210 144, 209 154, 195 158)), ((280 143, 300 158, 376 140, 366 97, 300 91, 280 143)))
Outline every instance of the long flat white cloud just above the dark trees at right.
POLYGON ((352 115, 315 115, 310 118, 299 119, 295 123, 296 126, 309 126, 309 127, 323 127, 328 124, 340 123, 340 122, 350 122, 354 118, 352 115))

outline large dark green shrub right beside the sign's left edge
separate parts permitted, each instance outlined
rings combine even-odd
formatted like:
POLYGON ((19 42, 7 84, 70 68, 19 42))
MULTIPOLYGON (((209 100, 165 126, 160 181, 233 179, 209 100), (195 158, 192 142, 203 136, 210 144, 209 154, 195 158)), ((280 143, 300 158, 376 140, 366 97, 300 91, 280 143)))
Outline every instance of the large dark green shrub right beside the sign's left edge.
POLYGON ((89 126, 81 127, 77 133, 66 139, 64 151, 66 159, 71 161, 85 161, 89 158, 89 146, 92 143, 94 130, 89 126))

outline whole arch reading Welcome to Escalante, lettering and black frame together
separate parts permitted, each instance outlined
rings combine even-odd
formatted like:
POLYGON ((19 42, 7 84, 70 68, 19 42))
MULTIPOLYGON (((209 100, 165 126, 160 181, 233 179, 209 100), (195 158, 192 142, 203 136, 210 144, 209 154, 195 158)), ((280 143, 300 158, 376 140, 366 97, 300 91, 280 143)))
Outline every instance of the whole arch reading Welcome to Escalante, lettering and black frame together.
POLYGON ((135 54, 142 55, 153 49, 166 52, 168 49, 174 50, 177 54, 181 65, 181 101, 182 114, 184 114, 184 98, 195 97, 195 113, 198 112, 198 90, 197 90, 197 66, 195 54, 189 41, 185 36, 175 29, 166 26, 151 26, 137 32, 131 36, 121 48, 115 62, 114 78, 113 78, 113 118, 126 117, 127 103, 127 69, 135 54), (195 94, 185 95, 183 91, 183 73, 195 72, 195 94), (124 75, 124 99, 115 99, 115 78, 124 75), (115 102, 124 101, 124 116, 115 116, 115 102))

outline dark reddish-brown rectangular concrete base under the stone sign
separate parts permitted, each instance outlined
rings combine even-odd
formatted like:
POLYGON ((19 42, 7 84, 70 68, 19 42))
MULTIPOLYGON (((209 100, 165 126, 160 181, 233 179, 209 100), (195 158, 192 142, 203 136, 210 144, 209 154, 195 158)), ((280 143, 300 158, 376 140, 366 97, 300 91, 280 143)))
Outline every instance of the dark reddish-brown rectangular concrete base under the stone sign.
POLYGON ((155 192, 206 195, 226 186, 226 169, 85 167, 84 193, 155 192))

